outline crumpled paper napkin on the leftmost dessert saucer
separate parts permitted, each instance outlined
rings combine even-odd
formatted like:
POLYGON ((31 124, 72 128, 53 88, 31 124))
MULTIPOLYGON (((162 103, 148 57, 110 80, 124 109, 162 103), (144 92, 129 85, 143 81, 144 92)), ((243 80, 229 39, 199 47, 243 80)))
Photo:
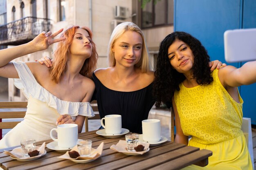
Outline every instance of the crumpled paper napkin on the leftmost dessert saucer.
POLYGON ((12 151, 4 150, 4 153, 7 155, 10 155, 13 158, 18 158, 18 159, 31 159, 31 158, 40 157, 41 155, 43 155, 45 153, 45 142, 41 146, 36 146, 36 148, 34 150, 39 151, 39 154, 34 157, 23 157, 23 152, 22 152, 21 147, 14 148, 12 151))

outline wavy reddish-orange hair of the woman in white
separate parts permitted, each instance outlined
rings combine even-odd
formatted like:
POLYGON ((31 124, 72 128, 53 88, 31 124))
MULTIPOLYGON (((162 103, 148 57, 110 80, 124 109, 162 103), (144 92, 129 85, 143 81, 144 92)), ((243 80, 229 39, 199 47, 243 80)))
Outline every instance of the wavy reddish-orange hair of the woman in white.
POLYGON ((65 37, 66 40, 58 42, 57 49, 54 51, 54 62, 49 69, 50 75, 56 83, 60 81, 66 70, 67 57, 70 55, 69 47, 74 39, 76 29, 84 29, 87 31, 92 44, 92 55, 85 60, 79 73, 85 77, 91 78, 93 71, 97 67, 98 53, 96 51, 96 46, 92 41, 92 31, 88 27, 71 26, 61 34, 61 37, 65 37))

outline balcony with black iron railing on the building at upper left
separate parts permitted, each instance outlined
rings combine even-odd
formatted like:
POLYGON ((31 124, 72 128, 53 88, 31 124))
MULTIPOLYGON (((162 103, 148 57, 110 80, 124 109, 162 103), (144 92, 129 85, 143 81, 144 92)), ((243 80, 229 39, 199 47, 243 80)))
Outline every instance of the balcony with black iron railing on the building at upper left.
POLYGON ((0 45, 20 45, 51 29, 51 20, 26 17, 0 26, 0 45))

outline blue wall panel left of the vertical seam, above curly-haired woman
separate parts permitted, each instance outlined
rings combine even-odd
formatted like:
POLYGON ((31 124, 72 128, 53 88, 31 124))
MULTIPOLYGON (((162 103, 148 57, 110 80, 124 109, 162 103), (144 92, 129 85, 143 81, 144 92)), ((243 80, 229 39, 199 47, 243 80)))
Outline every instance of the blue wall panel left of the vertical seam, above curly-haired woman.
POLYGON ((240 6, 240 0, 175 0, 174 30, 198 38, 211 60, 225 62, 223 33, 239 28, 240 6))

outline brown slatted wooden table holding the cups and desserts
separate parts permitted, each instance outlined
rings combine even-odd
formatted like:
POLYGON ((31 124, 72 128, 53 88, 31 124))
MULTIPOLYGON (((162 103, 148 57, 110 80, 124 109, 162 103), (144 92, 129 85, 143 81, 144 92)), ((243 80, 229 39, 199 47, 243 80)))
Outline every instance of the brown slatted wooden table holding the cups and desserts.
MULTIPOLYGON (((191 164, 206 166, 208 157, 212 155, 210 150, 199 150, 199 148, 185 146, 183 144, 173 144, 166 141, 157 146, 150 146, 150 150, 144 155, 124 155, 123 153, 115 152, 110 149, 112 144, 117 144, 119 140, 125 140, 125 137, 105 138, 97 135, 96 130, 80 133, 79 139, 91 139, 92 147, 97 148, 101 142, 104 142, 102 156, 95 161, 88 163, 74 163, 70 160, 57 158, 63 155, 63 152, 56 152, 45 148, 47 154, 39 159, 32 161, 17 161, 5 155, 3 150, 12 150, 6 148, 0 150, 0 167, 4 170, 55 170, 55 169, 73 169, 85 170, 93 168, 95 170, 178 170, 191 164)), ((46 144, 52 140, 46 140, 46 144)), ((37 142, 36 145, 41 145, 43 141, 37 142)), ((45 145, 46 146, 46 145, 45 145)))

